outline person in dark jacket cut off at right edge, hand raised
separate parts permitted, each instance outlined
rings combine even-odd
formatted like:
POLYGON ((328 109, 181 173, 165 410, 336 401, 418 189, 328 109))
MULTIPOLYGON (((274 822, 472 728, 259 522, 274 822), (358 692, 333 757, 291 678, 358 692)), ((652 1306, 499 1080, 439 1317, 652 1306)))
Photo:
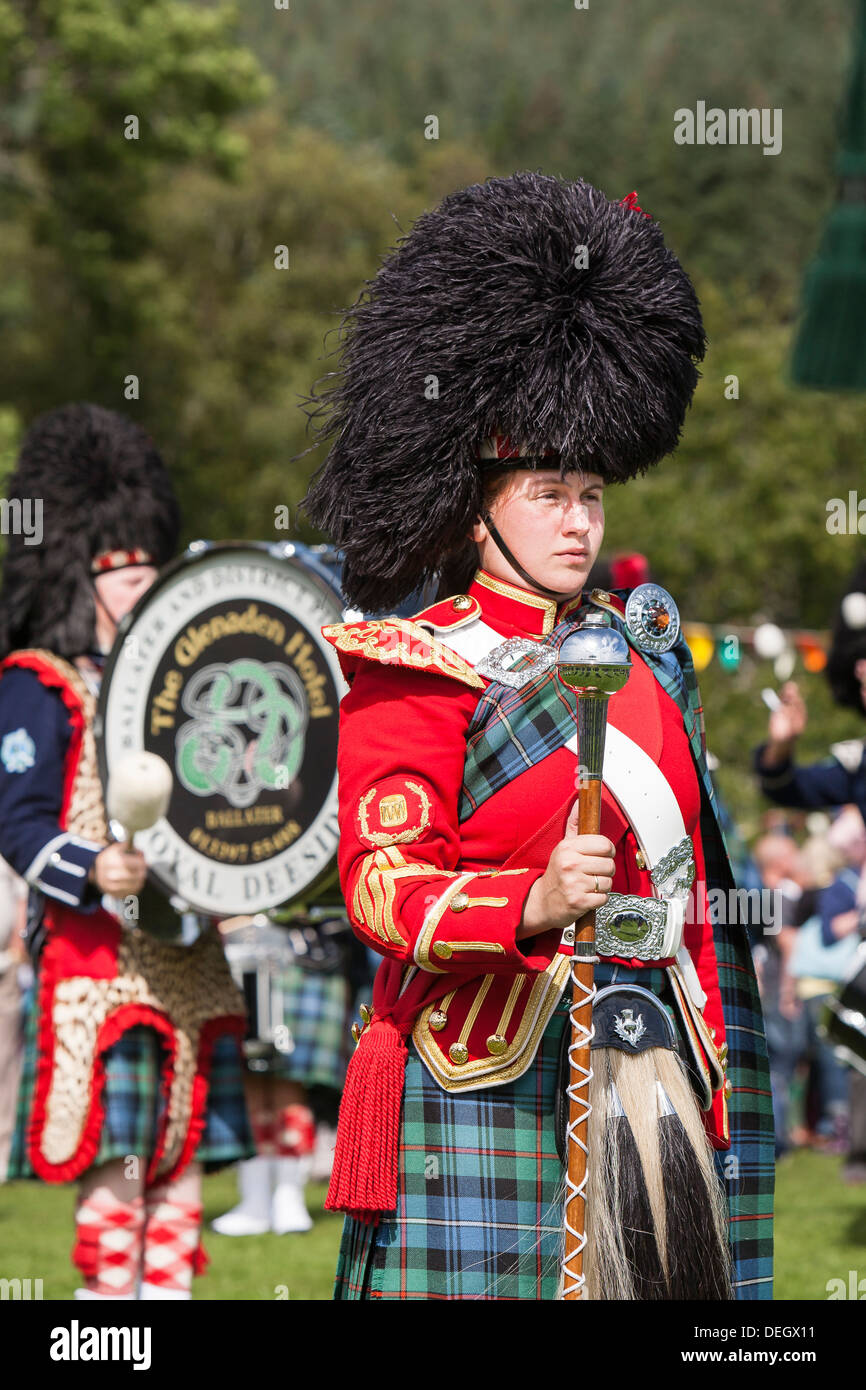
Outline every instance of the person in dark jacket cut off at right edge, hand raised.
MULTIPOLYGON (((866 562, 855 570, 840 603, 827 660, 827 680, 838 705, 866 717, 866 562)), ((796 739, 806 727, 806 705, 794 682, 780 691, 770 714, 769 738, 755 751, 755 770, 765 796, 780 806, 820 809, 855 805, 866 821, 866 741, 849 738, 830 746, 817 763, 801 766, 796 739)), ((851 1182, 866 1182, 866 1077, 851 1073, 851 1182)))

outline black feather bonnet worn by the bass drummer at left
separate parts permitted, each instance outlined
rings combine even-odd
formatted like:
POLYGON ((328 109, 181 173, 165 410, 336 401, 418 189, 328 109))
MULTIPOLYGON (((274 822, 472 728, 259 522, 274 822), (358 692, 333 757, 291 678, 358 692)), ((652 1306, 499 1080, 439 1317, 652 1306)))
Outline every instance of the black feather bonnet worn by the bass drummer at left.
POLYGON ((95 556, 140 549, 171 559, 179 513, 149 435, 101 406, 68 404, 28 430, 8 480, 10 525, 0 589, 0 656, 44 646, 74 657, 95 649, 95 556), (36 525, 36 520, 39 524, 36 525))

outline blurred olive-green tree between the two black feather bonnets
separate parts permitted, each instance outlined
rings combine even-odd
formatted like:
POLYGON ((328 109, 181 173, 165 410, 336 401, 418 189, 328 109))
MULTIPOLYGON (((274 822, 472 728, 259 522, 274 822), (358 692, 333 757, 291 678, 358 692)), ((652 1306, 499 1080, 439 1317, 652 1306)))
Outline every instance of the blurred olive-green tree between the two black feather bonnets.
POLYGON ((242 129, 249 154, 232 183, 183 174, 150 200, 143 414, 188 480, 188 532, 313 538, 296 503, 321 455, 295 457, 311 443, 300 400, 334 368, 343 310, 423 204, 375 150, 303 128, 286 139, 275 113, 242 129), (291 532, 275 530, 279 506, 291 532))

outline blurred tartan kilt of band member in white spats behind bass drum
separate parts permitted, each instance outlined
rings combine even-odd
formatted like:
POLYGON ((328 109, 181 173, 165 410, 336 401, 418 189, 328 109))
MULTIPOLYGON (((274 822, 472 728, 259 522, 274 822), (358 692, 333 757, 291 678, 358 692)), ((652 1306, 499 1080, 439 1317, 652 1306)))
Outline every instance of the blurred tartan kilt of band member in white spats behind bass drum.
POLYGON ((286 965, 277 973, 288 1051, 279 1051, 268 1072, 302 1086, 342 1091, 352 1052, 352 999, 342 970, 304 970, 286 965))

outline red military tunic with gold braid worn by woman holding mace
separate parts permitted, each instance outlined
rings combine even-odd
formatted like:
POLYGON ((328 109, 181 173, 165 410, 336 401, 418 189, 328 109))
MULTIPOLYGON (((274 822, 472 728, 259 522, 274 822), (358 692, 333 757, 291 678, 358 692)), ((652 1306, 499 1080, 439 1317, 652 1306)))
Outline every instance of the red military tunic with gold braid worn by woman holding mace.
MULTIPOLYGON (((339 873, 356 933, 385 956, 374 1017, 393 1019, 403 1034, 411 1029, 446 1090, 520 1076, 566 986, 560 933, 517 940, 517 929, 530 888, 564 833, 577 771, 574 753, 560 748, 459 820, 467 730, 489 682, 449 649, 449 632, 480 616, 503 639, 544 639, 578 602, 557 607, 478 571, 468 596, 410 623, 324 628, 350 684, 341 712, 339 873)), ((628 682, 610 699, 609 723, 662 769, 692 840, 696 874, 684 944, 708 997, 696 1031, 705 1072, 717 1084, 724 1019, 706 913, 698 777, 683 716, 638 652, 628 682)), ((606 788, 601 831, 616 847, 613 891, 652 897, 635 834, 606 788)), ((716 1147, 727 1147, 723 1088, 705 1122, 716 1147)))

